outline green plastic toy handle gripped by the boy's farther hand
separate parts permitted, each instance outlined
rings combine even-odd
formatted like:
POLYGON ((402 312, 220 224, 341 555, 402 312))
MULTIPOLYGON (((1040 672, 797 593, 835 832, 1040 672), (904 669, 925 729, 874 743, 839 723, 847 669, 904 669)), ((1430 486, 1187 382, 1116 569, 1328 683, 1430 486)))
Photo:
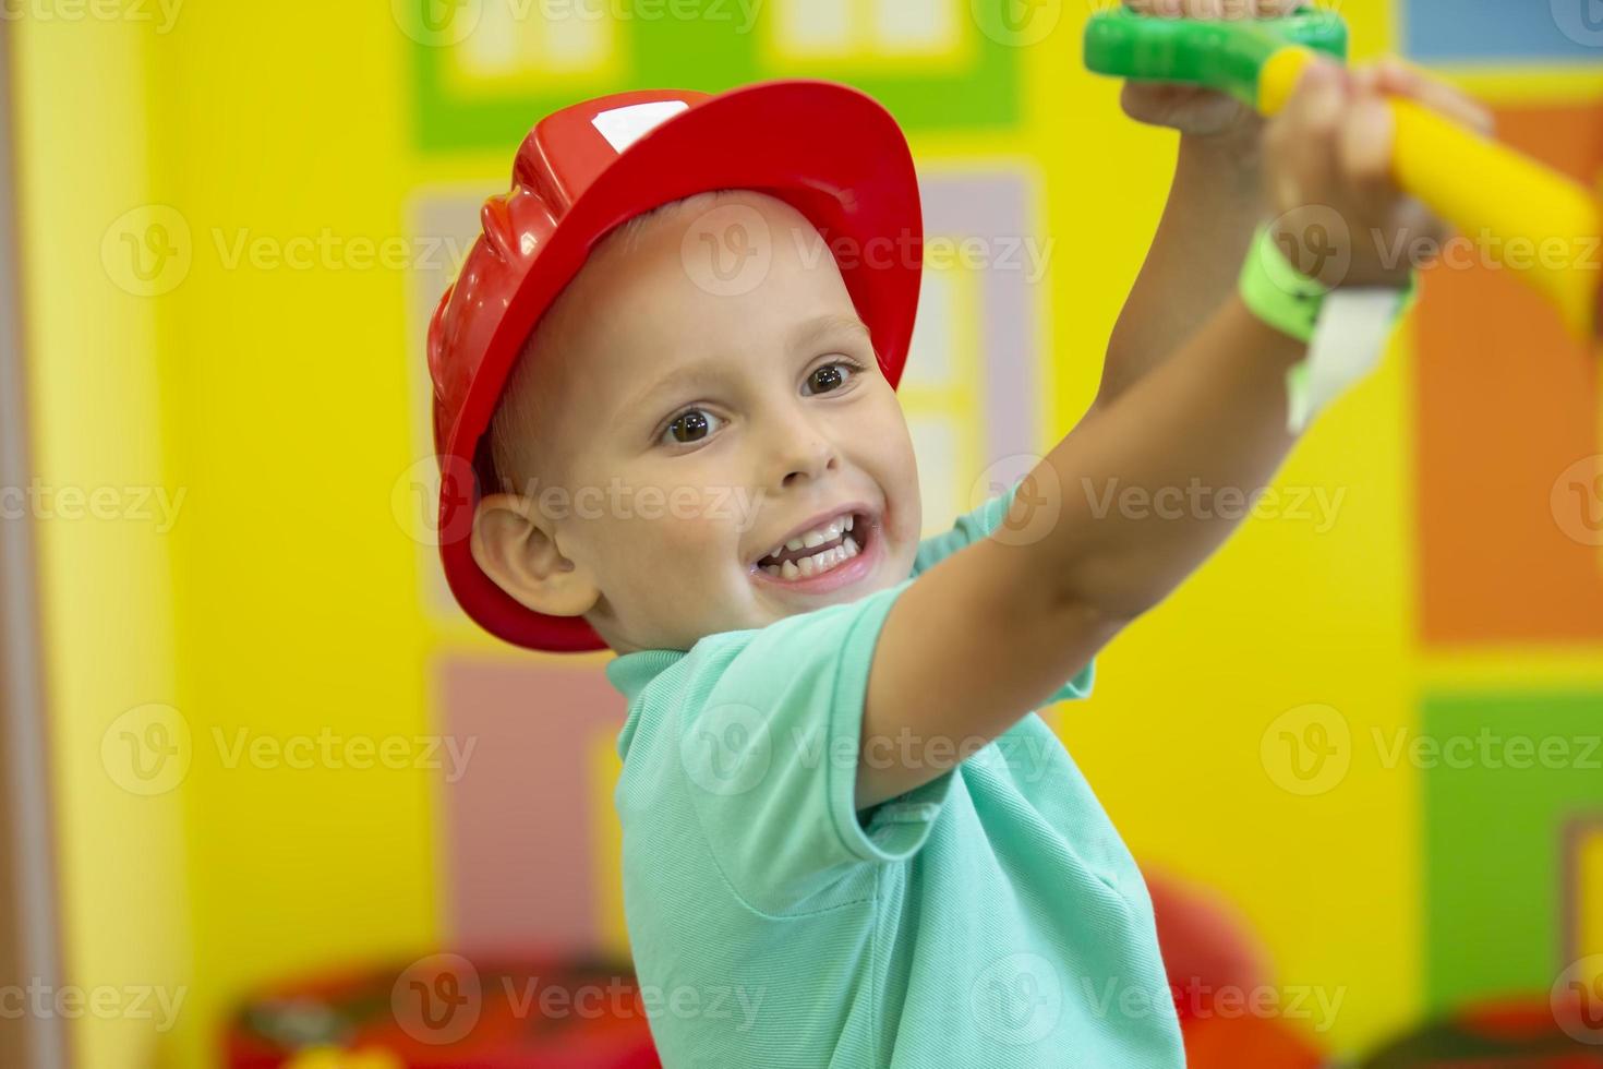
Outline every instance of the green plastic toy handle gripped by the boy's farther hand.
POLYGON ((1303 8, 1273 19, 1165 19, 1125 6, 1085 26, 1085 66, 1137 82, 1181 82, 1258 103, 1258 72, 1287 45, 1306 45, 1347 61, 1347 22, 1335 11, 1303 8))

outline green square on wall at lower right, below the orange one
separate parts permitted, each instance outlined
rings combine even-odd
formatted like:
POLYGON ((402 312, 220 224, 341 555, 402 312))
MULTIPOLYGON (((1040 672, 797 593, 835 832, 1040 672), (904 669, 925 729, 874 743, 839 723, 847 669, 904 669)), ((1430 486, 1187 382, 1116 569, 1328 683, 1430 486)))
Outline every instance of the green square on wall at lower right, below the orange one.
POLYGON ((1401 761, 1425 792, 1431 1008, 1545 992, 1569 965, 1566 827, 1603 814, 1600 736, 1603 692, 1425 699, 1419 737, 1438 748, 1401 761))

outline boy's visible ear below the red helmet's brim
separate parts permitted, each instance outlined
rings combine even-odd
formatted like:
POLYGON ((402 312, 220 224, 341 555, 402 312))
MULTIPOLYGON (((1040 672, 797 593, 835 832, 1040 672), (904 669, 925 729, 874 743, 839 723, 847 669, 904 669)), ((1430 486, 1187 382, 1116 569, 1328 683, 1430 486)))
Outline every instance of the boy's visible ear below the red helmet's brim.
POLYGON ((583 615, 601 590, 561 555, 555 535, 556 524, 518 494, 492 494, 473 511, 473 559, 497 587, 535 612, 583 615))

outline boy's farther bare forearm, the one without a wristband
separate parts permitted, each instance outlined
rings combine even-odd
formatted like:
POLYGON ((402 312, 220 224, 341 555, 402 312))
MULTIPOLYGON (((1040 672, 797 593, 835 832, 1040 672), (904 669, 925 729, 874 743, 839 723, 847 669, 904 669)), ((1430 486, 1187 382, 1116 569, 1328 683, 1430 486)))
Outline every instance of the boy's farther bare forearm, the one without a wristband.
POLYGON ((1258 136, 1181 138, 1151 250, 1114 324, 1098 407, 1175 356, 1236 285, 1266 215, 1258 136))

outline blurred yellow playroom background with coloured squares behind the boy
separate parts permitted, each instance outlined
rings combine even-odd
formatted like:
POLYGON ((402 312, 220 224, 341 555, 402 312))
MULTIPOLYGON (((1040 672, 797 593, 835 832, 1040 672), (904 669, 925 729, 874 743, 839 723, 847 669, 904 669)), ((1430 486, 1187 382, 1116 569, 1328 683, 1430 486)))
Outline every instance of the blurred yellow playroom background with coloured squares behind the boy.
MULTIPOLYGON (((1098 6, 0 8, 0 1064, 652 1064, 611 654, 454 607, 426 316, 547 112, 858 85, 920 168, 901 393, 944 529, 1084 412, 1162 207, 1173 135, 1079 64, 1098 6)), ((1340 10, 1597 186, 1603 5, 1340 10)), ((1499 268, 1431 271, 1047 713, 1154 883, 1194 1064, 1603 1056, 1603 396, 1499 268)))

